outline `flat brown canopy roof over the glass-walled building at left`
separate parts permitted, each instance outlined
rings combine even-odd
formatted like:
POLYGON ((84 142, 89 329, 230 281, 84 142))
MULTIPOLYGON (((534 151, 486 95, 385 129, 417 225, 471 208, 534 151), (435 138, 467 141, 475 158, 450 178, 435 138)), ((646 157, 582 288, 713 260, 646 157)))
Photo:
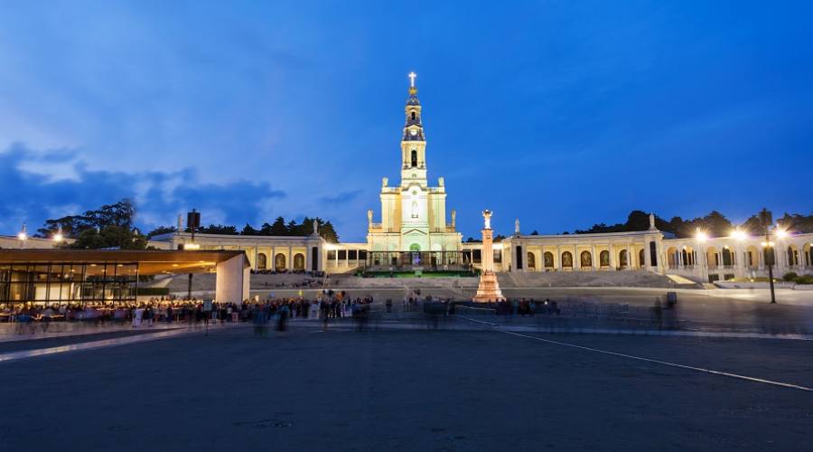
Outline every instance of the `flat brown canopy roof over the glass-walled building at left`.
MULTIPOLYGON (((0 250, 0 264, 114 263, 138 264, 141 275, 209 273, 217 264, 244 255, 241 250, 0 250)), ((244 259, 243 267, 248 267, 244 259)))

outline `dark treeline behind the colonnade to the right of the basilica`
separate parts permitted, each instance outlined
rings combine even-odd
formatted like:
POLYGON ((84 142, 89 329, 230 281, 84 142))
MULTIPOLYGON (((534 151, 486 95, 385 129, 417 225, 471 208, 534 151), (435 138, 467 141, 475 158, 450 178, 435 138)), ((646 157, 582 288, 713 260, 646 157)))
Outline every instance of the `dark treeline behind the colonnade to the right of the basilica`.
MULTIPOLYGON (((774 222, 780 224, 783 228, 789 231, 810 233, 813 232, 813 214, 800 215, 799 213, 785 213, 779 218, 774 218, 774 222)), ((693 237, 699 228, 705 231, 712 237, 724 237, 731 234, 735 227, 751 233, 762 233, 760 227, 759 214, 754 213, 743 224, 734 224, 725 216, 717 211, 709 212, 707 215, 697 217, 694 219, 684 220, 680 217, 672 217, 671 220, 666 221, 655 215, 655 227, 660 231, 668 232, 677 238, 693 237)), ((590 234, 596 232, 627 232, 627 231, 646 231, 649 229, 649 213, 642 211, 632 211, 627 217, 627 221, 607 225, 599 223, 593 225, 590 229, 576 230, 576 234, 590 234)), ((567 233, 567 232, 565 232, 567 233)))

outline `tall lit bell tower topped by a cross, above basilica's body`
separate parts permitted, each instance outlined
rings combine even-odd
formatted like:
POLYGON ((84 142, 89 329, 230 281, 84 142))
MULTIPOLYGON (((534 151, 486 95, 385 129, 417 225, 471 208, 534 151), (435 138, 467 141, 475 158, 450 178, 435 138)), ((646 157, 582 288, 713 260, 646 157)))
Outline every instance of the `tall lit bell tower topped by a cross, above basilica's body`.
POLYGON ((415 72, 409 72, 409 97, 406 99, 406 125, 401 137, 401 186, 426 187, 426 138, 421 122, 421 102, 417 99, 415 72))

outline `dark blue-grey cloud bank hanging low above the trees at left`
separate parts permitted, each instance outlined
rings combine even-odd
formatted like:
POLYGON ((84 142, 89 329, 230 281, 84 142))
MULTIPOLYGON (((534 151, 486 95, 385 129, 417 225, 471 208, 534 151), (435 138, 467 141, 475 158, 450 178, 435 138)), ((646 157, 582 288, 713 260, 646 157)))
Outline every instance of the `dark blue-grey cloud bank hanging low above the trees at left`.
POLYGON ((89 170, 79 152, 38 151, 17 143, 0 151, 0 231, 14 233, 42 222, 130 198, 136 224, 149 230, 173 225, 178 213, 197 208, 204 223, 259 222, 259 212, 285 192, 266 182, 203 179, 192 168, 175 171, 89 170))

